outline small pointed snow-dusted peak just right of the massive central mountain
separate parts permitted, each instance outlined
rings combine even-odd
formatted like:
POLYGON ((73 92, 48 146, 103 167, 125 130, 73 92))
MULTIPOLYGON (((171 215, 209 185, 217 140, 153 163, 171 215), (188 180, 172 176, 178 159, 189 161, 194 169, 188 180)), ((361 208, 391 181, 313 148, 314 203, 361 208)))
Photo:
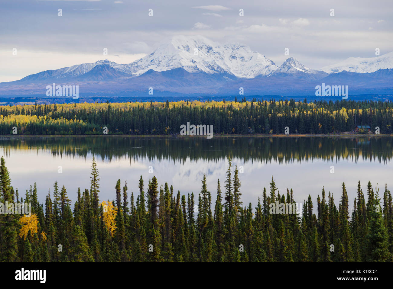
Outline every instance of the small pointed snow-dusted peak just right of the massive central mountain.
POLYGON ((283 77, 286 75, 291 75, 298 78, 321 79, 328 74, 320 70, 308 68, 293 57, 289 57, 276 71, 272 73, 271 76, 283 77))

